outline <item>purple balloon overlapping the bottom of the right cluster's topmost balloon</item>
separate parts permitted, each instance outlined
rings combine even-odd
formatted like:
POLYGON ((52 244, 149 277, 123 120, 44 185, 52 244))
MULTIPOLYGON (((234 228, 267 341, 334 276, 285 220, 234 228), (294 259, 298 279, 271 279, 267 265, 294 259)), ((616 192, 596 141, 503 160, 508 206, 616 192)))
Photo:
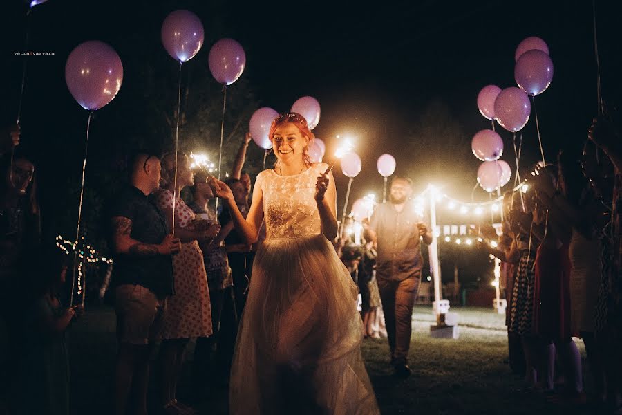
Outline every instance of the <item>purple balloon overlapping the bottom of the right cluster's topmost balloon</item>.
POLYGON ((529 95, 540 95, 553 80, 551 57, 538 49, 523 53, 514 66, 514 79, 529 95))

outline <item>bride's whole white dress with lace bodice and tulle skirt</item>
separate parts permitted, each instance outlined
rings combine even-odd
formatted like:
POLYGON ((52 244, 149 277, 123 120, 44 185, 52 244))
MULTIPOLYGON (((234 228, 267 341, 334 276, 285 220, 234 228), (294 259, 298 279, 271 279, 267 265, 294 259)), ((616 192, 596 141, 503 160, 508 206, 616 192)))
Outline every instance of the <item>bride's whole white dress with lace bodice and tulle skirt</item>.
POLYGON ((267 238, 253 264, 232 367, 232 414, 379 414, 359 345, 357 287, 321 234, 318 163, 265 170, 267 238))

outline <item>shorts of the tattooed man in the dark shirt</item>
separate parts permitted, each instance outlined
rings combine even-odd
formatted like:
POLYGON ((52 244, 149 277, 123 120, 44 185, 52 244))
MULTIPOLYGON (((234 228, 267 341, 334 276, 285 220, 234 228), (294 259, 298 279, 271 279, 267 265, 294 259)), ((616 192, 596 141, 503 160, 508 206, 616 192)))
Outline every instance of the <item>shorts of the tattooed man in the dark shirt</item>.
POLYGON ((115 291, 117 338, 120 343, 148 344, 158 338, 166 299, 158 299, 148 288, 124 284, 115 291))

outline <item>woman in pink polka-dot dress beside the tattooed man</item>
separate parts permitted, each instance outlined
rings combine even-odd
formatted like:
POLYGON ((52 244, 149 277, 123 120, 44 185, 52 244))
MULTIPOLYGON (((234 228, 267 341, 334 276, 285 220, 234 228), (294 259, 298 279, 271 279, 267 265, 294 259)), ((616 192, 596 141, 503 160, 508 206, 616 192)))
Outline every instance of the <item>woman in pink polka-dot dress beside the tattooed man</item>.
MULTIPOLYGON (((173 223, 173 187, 175 182, 175 154, 162 158, 162 186, 157 194, 158 207, 173 223)), ((190 160, 185 154, 178 154, 177 192, 194 185, 194 174, 190 160)), ((195 214, 177 196, 175 202, 175 236, 182 241, 182 248, 173 255, 173 278, 175 294, 167 300, 162 326, 160 346, 161 393, 164 411, 170 413, 187 411, 186 405, 176 399, 177 382, 183 365, 183 356, 190 338, 211 335, 211 308, 209 288, 199 241, 214 239, 220 225, 211 225, 197 230, 193 223, 195 214)), ((171 226, 172 228, 172 226, 171 226)))

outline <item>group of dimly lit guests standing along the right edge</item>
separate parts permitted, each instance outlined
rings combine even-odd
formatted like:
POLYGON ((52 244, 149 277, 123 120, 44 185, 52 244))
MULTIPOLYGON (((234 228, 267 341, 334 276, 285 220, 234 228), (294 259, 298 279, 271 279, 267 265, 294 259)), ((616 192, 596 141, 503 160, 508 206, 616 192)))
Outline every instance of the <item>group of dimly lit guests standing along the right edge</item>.
POLYGON ((550 400, 621 411, 622 140, 595 119, 583 151, 525 172, 529 190, 508 192, 498 249, 507 288, 509 363, 550 400), (587 353, 594 396, 583 389, 587 353))

